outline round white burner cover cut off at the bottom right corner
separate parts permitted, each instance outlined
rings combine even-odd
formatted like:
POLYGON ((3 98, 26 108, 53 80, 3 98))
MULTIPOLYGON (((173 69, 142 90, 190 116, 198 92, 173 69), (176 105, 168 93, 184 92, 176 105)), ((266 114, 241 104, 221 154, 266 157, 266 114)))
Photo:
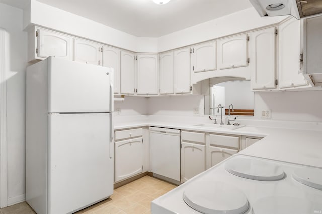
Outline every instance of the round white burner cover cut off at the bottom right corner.
POLYGON ((322 204, 296 197, 270 196, 253 204, 253 214, 319 213, 322 204), (314 212, 315 211, 315 212, 314 212))

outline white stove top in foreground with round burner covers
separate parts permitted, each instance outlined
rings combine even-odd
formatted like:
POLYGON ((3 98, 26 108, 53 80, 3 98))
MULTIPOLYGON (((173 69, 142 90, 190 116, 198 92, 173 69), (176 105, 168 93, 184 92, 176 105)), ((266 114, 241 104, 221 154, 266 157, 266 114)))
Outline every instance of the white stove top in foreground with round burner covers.
POLYGON ((322 213, 322 169, 233 155, 153 200, 151 211, 322 213))

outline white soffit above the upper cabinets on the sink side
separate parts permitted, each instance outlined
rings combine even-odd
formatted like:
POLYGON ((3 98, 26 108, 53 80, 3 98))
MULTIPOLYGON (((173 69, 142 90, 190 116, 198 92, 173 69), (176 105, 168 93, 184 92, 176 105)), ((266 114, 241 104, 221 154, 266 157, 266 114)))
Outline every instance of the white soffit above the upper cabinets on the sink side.
POLYGON ((260 17, 253 7, 248 8, 159 37, 158 51, 162 52, 239 32, 249 31, 279 23, 285 18, 287 18, 287 16, 260 17))

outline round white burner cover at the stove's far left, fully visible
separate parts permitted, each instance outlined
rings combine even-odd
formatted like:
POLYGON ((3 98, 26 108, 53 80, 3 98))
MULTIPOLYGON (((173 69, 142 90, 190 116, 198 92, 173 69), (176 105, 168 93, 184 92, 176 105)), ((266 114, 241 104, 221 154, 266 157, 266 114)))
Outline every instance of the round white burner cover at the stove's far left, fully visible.
POLYGON ((226 162, 225 169, 231 174, 252 180, 274 181, 285 177, 280 166, 253 158, 232 158, 226 162))

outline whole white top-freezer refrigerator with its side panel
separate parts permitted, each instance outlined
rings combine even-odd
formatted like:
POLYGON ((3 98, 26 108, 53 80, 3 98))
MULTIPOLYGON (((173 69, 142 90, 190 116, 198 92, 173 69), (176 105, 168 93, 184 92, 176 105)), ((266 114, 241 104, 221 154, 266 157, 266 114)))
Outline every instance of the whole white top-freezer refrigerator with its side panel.
POLYGON ((113 193, 113 71, 49 57, 27 68, 26 201, 73 213, 113 193))

